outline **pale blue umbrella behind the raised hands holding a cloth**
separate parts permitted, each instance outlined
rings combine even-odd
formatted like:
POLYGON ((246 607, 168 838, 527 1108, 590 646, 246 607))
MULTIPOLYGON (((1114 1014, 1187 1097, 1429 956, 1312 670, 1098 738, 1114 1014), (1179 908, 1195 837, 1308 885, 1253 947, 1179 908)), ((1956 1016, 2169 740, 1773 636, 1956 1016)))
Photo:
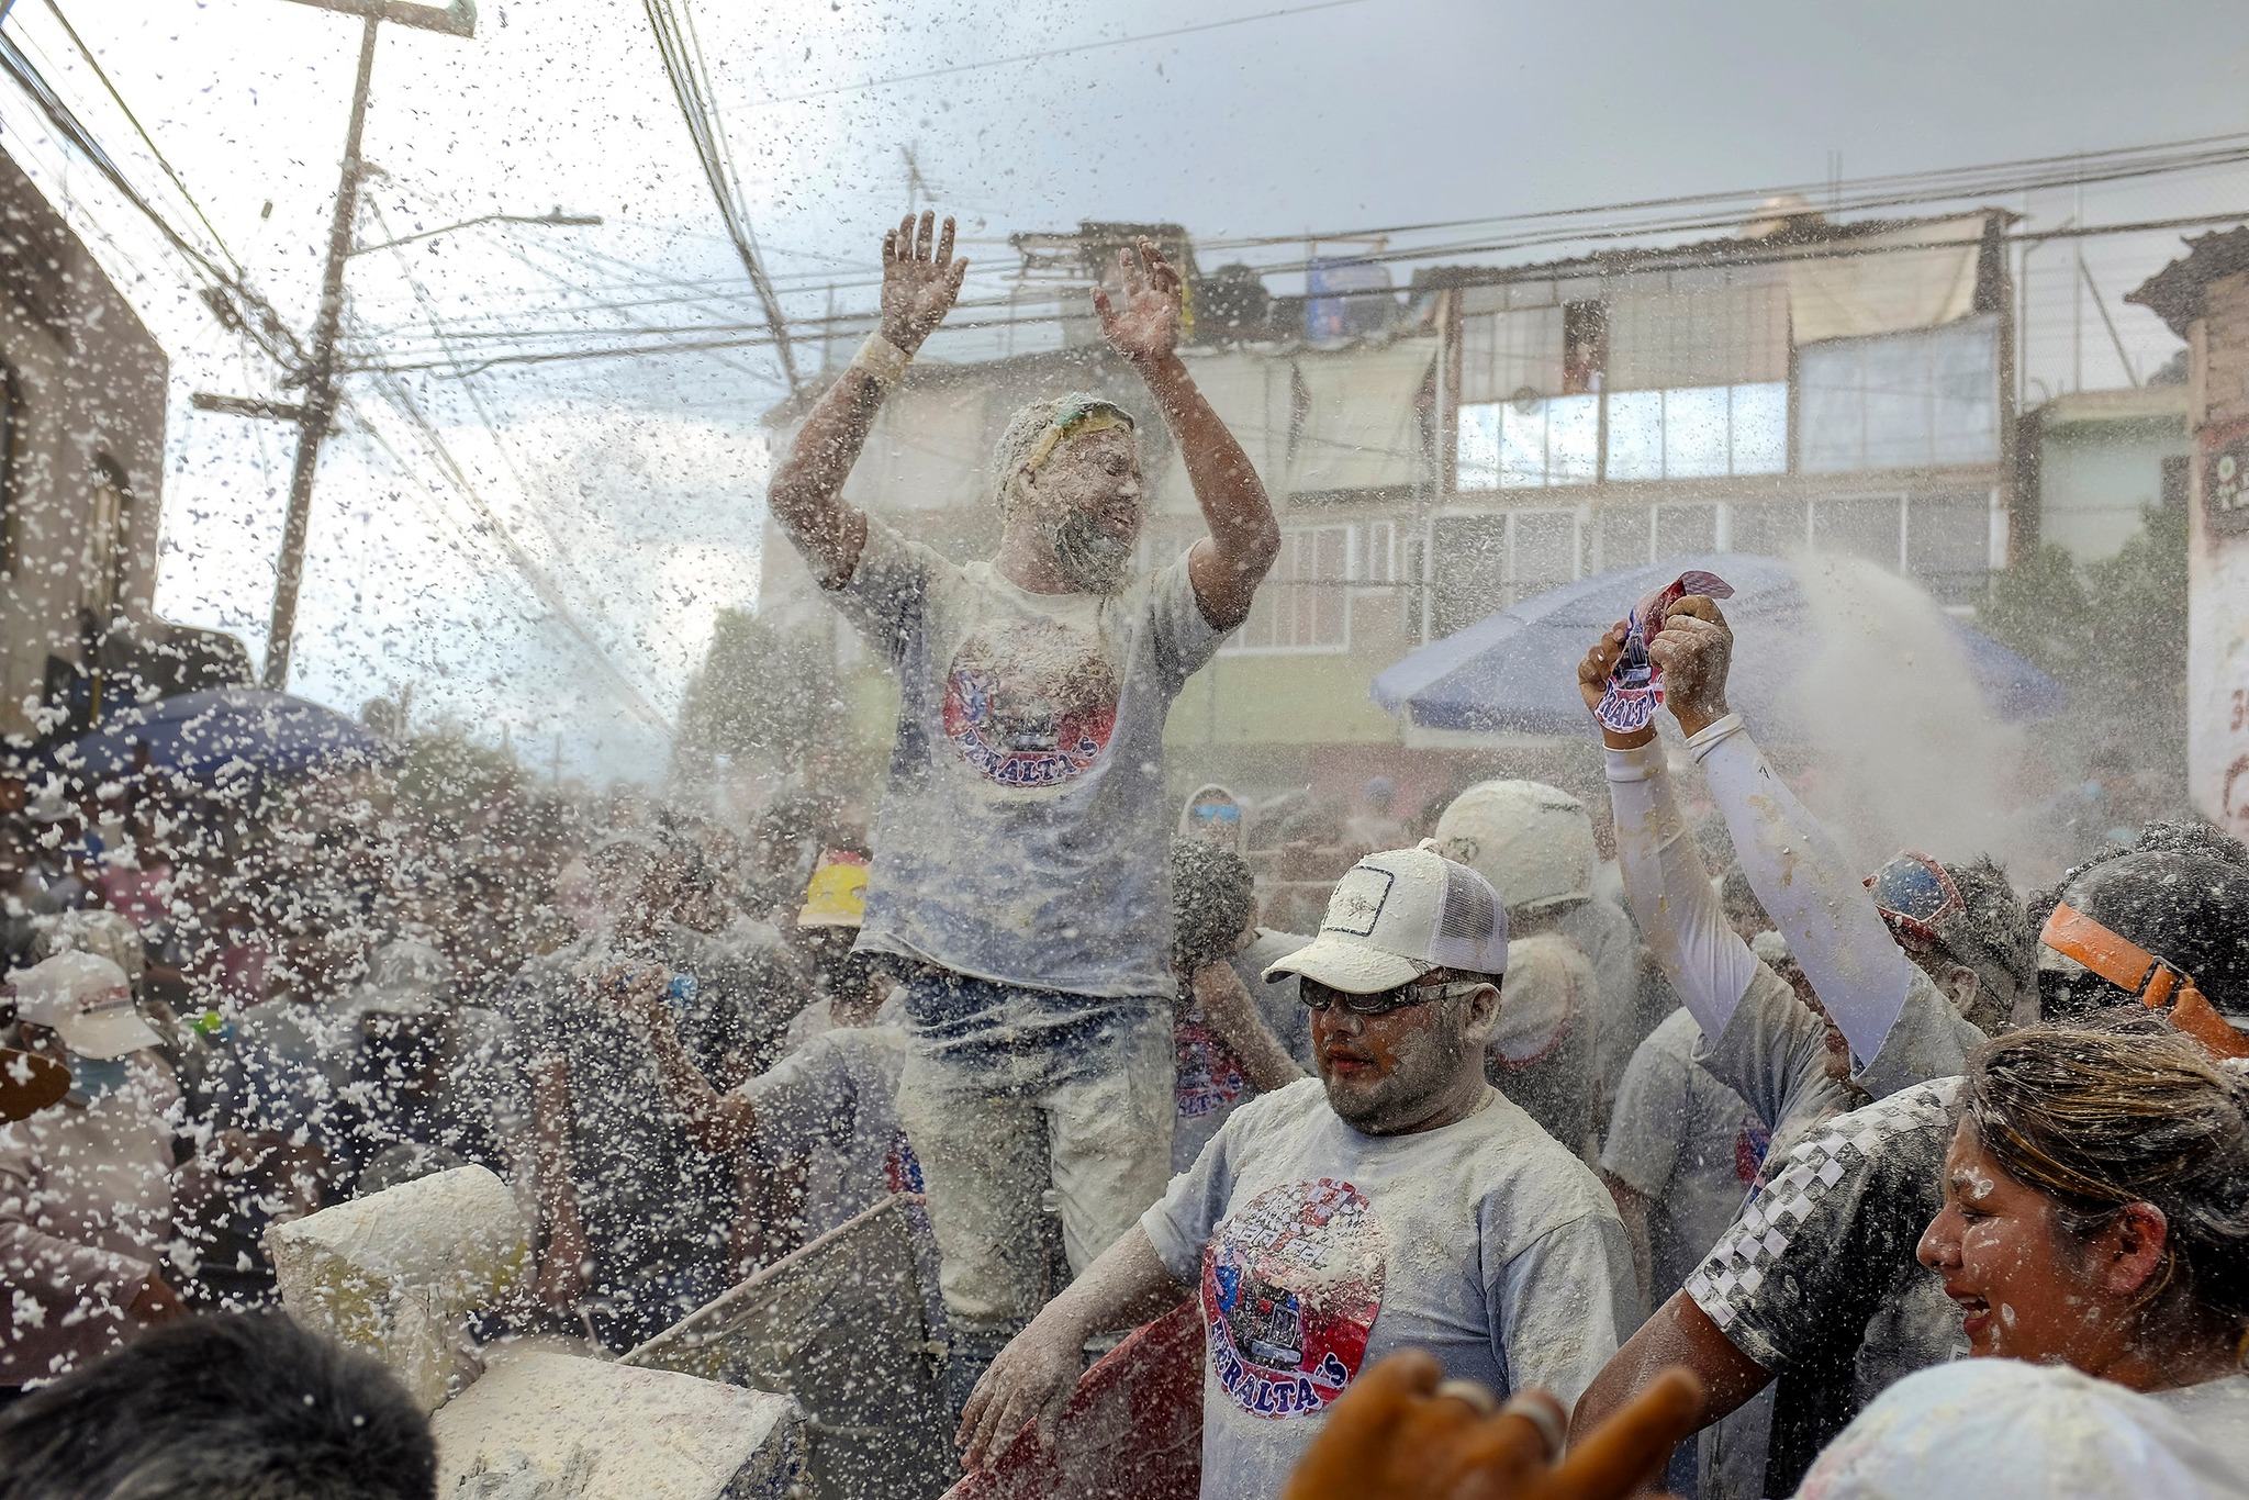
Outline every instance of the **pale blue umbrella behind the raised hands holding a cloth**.
MULTIPOLYGON (((1795 735, 1790 688, 1819 650, 1797 569, 1781 558, 1714 553, 1619 569, 1527 598, 1442 641, 1430 641, 1374 677, 1374 702, 1408 713, 1421 729, 1482 733, 1597 733, 1577 693, 1577 663, 1604 630, 1635 603, 1687 569, 1707 569, 1734 585, 1725 600, 1734 627, 1736 672, 1727 699, 1779 738, 1795 735)), ((2042 720, 2062 711, 2062 686, 1990 636, 1945 621, 1968 670, 1999 717, 2042 720)))

